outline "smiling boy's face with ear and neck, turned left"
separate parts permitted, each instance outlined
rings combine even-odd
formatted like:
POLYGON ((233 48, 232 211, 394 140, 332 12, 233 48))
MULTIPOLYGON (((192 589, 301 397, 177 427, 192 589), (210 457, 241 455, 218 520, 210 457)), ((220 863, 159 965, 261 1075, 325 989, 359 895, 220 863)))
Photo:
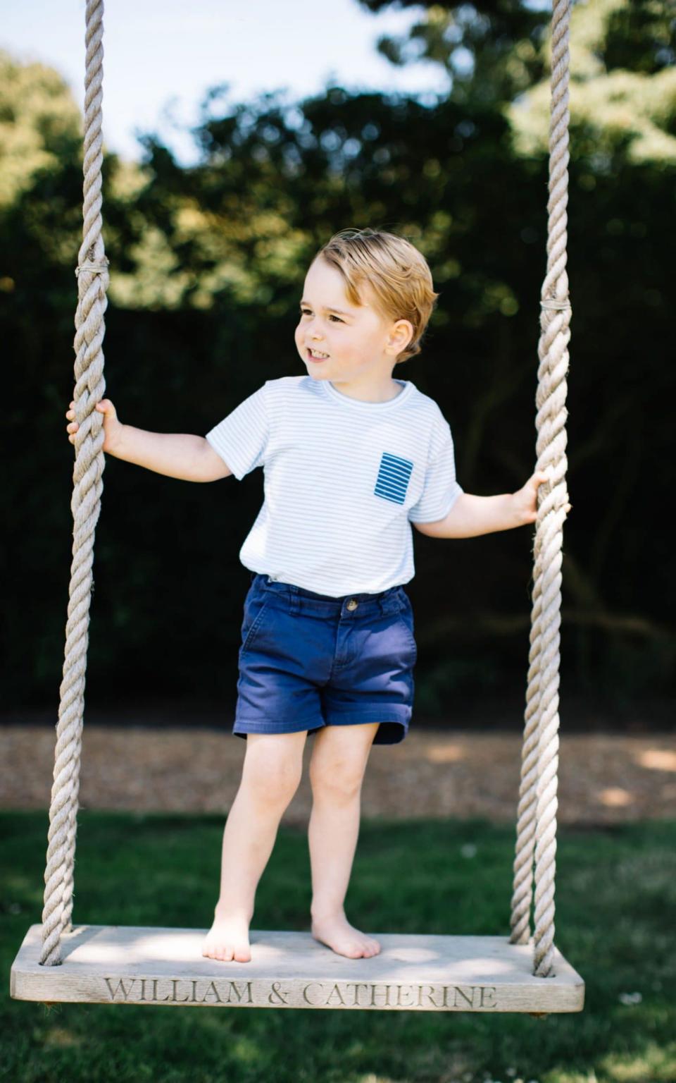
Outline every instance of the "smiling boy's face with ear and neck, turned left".
POLYGON ((350 304, 343 277, 321 257, 305 277, 295 344, 316 380, 379 389, 392 379, 397 360, 413 337, 408 319, 383 319, 372 304, 372 293, 361 290, 363 303, 350 304), (309 350, 328 354, 312 357, 309 350))

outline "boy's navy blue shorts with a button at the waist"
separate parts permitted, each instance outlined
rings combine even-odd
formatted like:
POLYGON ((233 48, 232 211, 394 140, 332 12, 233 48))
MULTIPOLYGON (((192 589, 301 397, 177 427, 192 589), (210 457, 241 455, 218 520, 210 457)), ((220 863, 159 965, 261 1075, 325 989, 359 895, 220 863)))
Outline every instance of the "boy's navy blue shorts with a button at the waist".
POLYGON ((256 572, 251 579, 233 732, 380 722, 374 744, 403 741, 417 656, 403 587, 330 598, 256 572))

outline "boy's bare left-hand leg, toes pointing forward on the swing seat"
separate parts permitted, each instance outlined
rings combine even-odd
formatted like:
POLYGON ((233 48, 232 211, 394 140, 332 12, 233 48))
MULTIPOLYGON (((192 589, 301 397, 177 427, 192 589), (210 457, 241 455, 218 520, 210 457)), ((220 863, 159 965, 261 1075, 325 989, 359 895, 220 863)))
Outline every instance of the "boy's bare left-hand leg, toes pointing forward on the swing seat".
POLYGON ((251 960, 249 926, 255 891, 273 852, 279 821, 303 772, 307 731, 248 733, 242 778, 223 832, 221 895, 202 955, 251 960))

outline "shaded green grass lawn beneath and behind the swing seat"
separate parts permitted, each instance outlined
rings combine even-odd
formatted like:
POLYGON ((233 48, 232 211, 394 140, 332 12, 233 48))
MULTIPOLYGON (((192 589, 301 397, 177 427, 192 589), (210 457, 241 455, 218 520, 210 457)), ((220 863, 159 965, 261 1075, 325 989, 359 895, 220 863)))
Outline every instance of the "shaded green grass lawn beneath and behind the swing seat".
MULTIPOLYGON (((47 828, 45 812, 0 813, 2 1080, 676 1081, 676 821, 559 828, 556 945, 586 994, 583 1013, 546 1019, 12 1001, 12 961, 41 921, 47 828)), ((208 928, 222 833, 221 817, 81 810, 76 924, 208 928)), ((367 931, 507 935, 513 853, 514 830, 485 820, 364 821, 347 915, 367 931)), ((309 901, 306 835, 282 827, 253 927, 308 929, 309 901)))

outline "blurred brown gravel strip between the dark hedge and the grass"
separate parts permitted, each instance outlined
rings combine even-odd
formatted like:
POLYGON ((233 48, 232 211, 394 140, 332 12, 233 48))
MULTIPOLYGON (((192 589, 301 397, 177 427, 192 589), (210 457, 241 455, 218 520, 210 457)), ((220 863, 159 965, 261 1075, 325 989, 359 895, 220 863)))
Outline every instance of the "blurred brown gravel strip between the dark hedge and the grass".
MULTIPOLYGON (((0 808, 47 809, 54 727, 0 728, 0 808)), ((306 824, 312 792, 303 781, 283 823, 306 824)), ((246 742, 212 728, 111 727, 85 722, 80 807, 226 812, 246 742)), ((363 818, 486 817, 515 823, 518 733, 419 730, 372 748, 362 787, 363 818)), ((676 735, 559 734, 558 822, 619 824, 676 818, 676 735)))

